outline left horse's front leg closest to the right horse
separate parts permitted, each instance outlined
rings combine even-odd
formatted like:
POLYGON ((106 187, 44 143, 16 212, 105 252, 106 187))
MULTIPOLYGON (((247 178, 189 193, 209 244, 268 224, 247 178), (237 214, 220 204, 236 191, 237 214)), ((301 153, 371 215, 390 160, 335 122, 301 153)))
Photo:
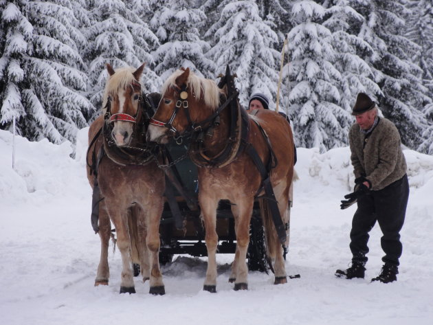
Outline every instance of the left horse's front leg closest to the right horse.
POLYGON ((164 282, 162 281, 162 273, 159 267, 159 221, 161 219, 163 202, 162 199, 152 200, 153 208, 148 209, 147 213, 147 235, 146 245, 148 248, 148 256, 150 258, 151 276, 149 293, 153 295, 164 295, 166 293, 164 282))

